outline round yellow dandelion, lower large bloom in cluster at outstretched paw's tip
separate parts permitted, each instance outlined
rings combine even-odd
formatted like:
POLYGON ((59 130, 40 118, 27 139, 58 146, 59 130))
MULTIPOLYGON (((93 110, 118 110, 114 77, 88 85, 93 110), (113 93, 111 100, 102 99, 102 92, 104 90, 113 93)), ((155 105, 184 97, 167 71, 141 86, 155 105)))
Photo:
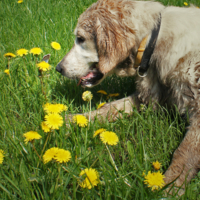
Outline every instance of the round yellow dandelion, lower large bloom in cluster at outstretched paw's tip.
POLYGON ((59 129, 63 125, 63 118, 58 113, 45 115, 45 123, 51 129, 59 129))

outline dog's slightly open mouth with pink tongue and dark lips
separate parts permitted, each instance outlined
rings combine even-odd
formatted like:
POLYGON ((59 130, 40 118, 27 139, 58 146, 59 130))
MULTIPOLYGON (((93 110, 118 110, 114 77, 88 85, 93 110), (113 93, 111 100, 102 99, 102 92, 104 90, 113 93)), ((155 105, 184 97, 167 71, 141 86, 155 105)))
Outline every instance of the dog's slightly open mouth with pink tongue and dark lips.
POLYGON ((92 87, 97 85, 103 76, 104 75, 98 70, 98 63, 93 63, 89 73, 80 78, 78 85, 81 85, 82 87, 92 87))

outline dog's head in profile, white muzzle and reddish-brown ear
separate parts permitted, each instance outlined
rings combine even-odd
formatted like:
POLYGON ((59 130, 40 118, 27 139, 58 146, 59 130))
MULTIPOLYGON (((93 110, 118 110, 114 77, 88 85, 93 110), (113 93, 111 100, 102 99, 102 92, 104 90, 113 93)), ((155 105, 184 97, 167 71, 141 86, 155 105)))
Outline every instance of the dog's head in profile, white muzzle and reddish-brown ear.
POLYGON ((134 25, 128 20, 133 6, 117 0, 94 3, 80 16, 74 46, 56 70, 79 79, 83 87, 97 85, 112 73, 130 75, 137 46, 134 25))

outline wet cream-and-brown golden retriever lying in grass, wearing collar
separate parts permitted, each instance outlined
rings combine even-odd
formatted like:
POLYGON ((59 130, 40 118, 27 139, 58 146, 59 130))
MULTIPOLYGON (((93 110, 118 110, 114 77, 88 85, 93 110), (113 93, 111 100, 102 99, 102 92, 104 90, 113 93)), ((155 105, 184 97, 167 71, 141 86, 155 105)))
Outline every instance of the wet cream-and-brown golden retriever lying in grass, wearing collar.
MULTIPOLYGON (((159 2, 99 0, 79 18, 75 43, 57 65, 63 76, 93 87, 107 76, 135 76, 137 91, 93 111, 116 120, 153 103, 188 112, 190 126, 165 183, 184 190, 200 168, 200 10, 159 2), (119 112, 120 111, 120 112, 119 112)), ((87 115, 87 113, 85 114, 87 115)))

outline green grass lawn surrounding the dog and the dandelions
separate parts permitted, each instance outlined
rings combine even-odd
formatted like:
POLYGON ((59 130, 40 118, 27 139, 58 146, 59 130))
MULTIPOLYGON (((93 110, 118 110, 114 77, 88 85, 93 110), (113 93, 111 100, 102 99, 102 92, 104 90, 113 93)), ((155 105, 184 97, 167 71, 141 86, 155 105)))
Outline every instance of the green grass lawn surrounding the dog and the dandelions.
MULTIPOLYGON (((73 29, 78 16, 93 3, 92 0, 17 0, 0 1, 0 149, 5 158, 0 165, 0 199, 159 199, 162 190, 152 192, 144 184, 142 173, 152 171, 152 162, 162 163, 161 172, 170 164, 174 150, 186 131, 187 119, 177 112, 168 113, 164 108, 153 111, 149 106, 143 112, 134 110, 131 117, 124 115, 113 123, 90 122, 86 128, 74 124, 63 125, 47 133, 41 129, 44 120, 43 104, 63 103, 67 113, 89 111, 89 104, 81 98, 84 89, 75 81, 56 73, 54 68, 73 45, 73 29), (61 44, 61 50, 51 48, 52 41, 61 44), (36 67, 36 58, 30 54, 16 57, 9 62, 10 75, 4 73, 8 61, 3 55, 15 53, 20 48, 40 47, 43 55, 50 53, 52 69, 44 76, 44 91, 36 67), (105 128, 119 137, 116 146, 106 146, 94 131, 105 128), (24 142, 23 134, 37 131, 42 139, 34 146, 39 155, 57 146, 69 150, 72 159, 66 164, 51 161, 44 164, 33 149, 32 143, 24 142), (108 151, 109 150, 109 151, 108 151), (110 154, 111 156, 110 156, 110 154), (112 161, 114 160, 114 163, 112 161), (85 168, 98 171, 100 183, 92 188, 81 188, 79 174, 85 168), (116 170, 117 167, 117 170, 116 170)), ((184 1, 161 1, 165 5, 183 6, 184 1)), ((189 2, 188 2, 189 3, 189 2)), ((190 1, 200 5, 196 0, 190 1)), ((42 55, 38 60, 42 59, 42 55)), ((107 78, 91 89, 92 109, 100 102, 111 101, 131 94, 134 79, 107 78), (113 87, 113 85, 115 87, 113 87), (107 99, 97 93, 119 93, 119 97, 107 99)), ((62 114, 63 117, 65 113, 62 114)), ((186 187, 180 199, 200 199, 200 176, 186 187)), ((177 199, 168 196, 166 199, 177 199)))

